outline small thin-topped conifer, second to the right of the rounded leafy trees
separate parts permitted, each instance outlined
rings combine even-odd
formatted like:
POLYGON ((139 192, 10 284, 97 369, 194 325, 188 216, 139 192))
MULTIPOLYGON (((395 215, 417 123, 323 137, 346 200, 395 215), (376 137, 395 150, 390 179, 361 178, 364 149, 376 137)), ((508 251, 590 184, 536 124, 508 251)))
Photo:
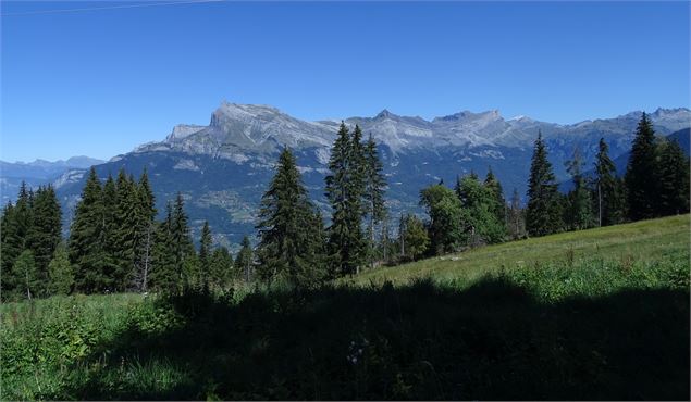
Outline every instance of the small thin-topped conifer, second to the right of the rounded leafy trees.
POLYGON ((573 180, 573 189, 567 197, 564 223, 570 230, 587 229, 593 226, 593 209, 591 193, 583 177, 583 159, 578 148, 573 150, 573 159, 565 165, 573 180))

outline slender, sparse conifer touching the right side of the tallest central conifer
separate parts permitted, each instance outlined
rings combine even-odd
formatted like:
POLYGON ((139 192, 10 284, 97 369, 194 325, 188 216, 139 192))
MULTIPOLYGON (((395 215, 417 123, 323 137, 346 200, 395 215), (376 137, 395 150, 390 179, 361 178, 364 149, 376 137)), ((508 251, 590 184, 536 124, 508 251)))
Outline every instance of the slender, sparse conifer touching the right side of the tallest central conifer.
POLYGON ((365 145, 365 205, 367 206, 368 225, 368 255, 370 265, 374 266, 377 260, 377 241, 374 234, 375 226, 386 218, 386 208, 384 205, 384 191, 386 188, 386 179, 383 174, 383 164, 379 159, 377 143, 370 134, 365 145))

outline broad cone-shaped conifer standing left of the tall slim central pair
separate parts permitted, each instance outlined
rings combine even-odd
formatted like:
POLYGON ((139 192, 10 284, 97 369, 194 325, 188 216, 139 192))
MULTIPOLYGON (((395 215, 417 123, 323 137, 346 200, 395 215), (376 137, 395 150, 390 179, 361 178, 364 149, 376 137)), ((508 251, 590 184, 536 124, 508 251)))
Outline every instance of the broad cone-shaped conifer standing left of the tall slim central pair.
POLYGON ((321 218, 307 197, 295 156, 285 148, 276 174, 261 198, 259 211, 259 274, 266 281, 286 279, 294 286, 310 286, 321 280, 321 218))

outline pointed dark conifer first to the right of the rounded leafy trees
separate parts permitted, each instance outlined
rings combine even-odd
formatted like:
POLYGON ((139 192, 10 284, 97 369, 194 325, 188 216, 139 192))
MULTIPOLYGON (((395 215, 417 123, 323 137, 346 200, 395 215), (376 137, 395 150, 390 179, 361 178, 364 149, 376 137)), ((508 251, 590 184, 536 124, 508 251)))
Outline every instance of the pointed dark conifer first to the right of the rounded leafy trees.
POLYGON ((560 230, 563 226, 557 184, 552 164, 547 161, 542 134, 539 133, 530 165, 526 229, 531 236, 544 236, 560 230))

